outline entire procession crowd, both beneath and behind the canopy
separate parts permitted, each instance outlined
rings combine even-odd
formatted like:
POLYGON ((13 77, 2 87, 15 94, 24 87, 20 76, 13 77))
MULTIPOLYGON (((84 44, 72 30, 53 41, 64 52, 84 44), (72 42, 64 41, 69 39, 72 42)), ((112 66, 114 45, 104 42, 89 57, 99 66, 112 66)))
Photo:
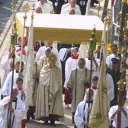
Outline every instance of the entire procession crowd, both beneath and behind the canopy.
MULTIPOLYGON (((91 5, 94 4, 91 3, 91 5)), ((84 15, 87 1, 49 1, 39 0, 35 4, 36 13, 62 15, 84 15), (53 2, 53 3, 52 3, 53 2), (60 2, 60 3, 59 3, 60 2), (62 3, 61 3, 62 2, 62 3), (64 4, 65 3, 65 4, 64 4), (62 6, 62 7, 61 7, 62 6)), ((44 41, 34 44, 32 94, 29 97, 25 90, 26 65, 28 48, 26 37, 18 38, 14 47, 9 46, 8 54, 2 57, 1 67, 4 70, 1 81, 0 128, 25 128, 31 119, 64 121, 64 107, 72 112, 74 127, 89 127, 89 115, 95 100, 101 64, 101 46, 93 51, 92 68, 90 68, 90 51, 86 58, 79 57, 79 45, 58 44, 44 41), (22 47, 23 43, 23 47, 22 47), (22 57, 21 57, 22 56, 22 57), (92 78, 92 79, 91 79, 92 78), (64 94, 64 99, 63 99, 64 94), (27 100, 26 100, 27 99, 27 100), (65 106, 63 106, 63 102, 65 106)), ((128 128, 127 90, 124 90, 122 106, 118 106, 118 84, 120 80, 120 62, 122 54, 118 54, 118 46, 111 45, 111 54, 106 58, 106 81, 108 95, 108 119, 110 127, 117 127, 117 114, 121 113, 121 128, 128 128)), ((128 59, 126 60, 128 68, 128 59)))

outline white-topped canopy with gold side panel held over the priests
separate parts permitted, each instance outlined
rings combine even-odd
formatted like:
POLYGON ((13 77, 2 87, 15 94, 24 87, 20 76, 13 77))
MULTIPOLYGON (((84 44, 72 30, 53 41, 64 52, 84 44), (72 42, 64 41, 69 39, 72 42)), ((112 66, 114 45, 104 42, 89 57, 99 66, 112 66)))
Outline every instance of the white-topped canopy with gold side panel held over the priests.
MULTIPOLYGON (((16 26, 20 36, 23 32, 24 13, 16 14, 16 26)), ((27 13, 25 27, 27 32, 31 24, 31 13, 27 13)), ((34 13, 34 42, 39 40, 59 41, 64 43, 88 42, 96 26, 97 41, 101 42, 104 24, 97 16, 58 15, 34 13)))

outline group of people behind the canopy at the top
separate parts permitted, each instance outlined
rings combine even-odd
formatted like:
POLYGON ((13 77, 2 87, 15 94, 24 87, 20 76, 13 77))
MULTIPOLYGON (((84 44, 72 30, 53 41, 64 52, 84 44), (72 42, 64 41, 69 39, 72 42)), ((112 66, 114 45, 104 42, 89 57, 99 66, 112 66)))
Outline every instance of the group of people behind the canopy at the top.
MULTIPOLYGON (((98 4, 97 0, 91 1, 91 6, 98 4)), ((35 4, 36 13, 85 15, 88 0, 38 0, 35 4)))

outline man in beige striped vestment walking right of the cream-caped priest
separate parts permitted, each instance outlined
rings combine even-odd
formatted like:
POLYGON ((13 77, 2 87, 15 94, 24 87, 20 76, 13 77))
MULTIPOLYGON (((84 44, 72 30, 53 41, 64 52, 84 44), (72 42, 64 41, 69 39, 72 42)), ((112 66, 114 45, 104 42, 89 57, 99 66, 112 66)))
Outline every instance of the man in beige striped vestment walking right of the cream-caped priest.
POLYGON ((90 80, 90 72, 85 68, 85 59, 80 58, 78 61, 78 67, 71 71, 71 75, 67 84, 67 88, 72 91, 72 123, 74 123, 74 114, 77 105, 83 100, 86 83, 90 80))

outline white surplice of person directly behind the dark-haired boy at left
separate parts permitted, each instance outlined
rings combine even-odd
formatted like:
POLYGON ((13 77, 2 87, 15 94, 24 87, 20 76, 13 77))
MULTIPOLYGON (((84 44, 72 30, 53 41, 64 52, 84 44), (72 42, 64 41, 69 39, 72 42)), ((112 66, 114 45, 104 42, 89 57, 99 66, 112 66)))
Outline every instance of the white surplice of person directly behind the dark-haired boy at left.
MULTIPOLYGON (((16 87, 17 88, 17 85, 16 85, 16 80, 18 78, 18 74, 16 72, 16 70, 14 70, 14 78, 13 78, 13 88, 16 87)), ((4 95, 4 96, 10 96, 11 94, 11 86, 12 86, 12 71, 8 74, 5 82, 4 82, 4 85, 1 89, 1 94, 4 95)))

